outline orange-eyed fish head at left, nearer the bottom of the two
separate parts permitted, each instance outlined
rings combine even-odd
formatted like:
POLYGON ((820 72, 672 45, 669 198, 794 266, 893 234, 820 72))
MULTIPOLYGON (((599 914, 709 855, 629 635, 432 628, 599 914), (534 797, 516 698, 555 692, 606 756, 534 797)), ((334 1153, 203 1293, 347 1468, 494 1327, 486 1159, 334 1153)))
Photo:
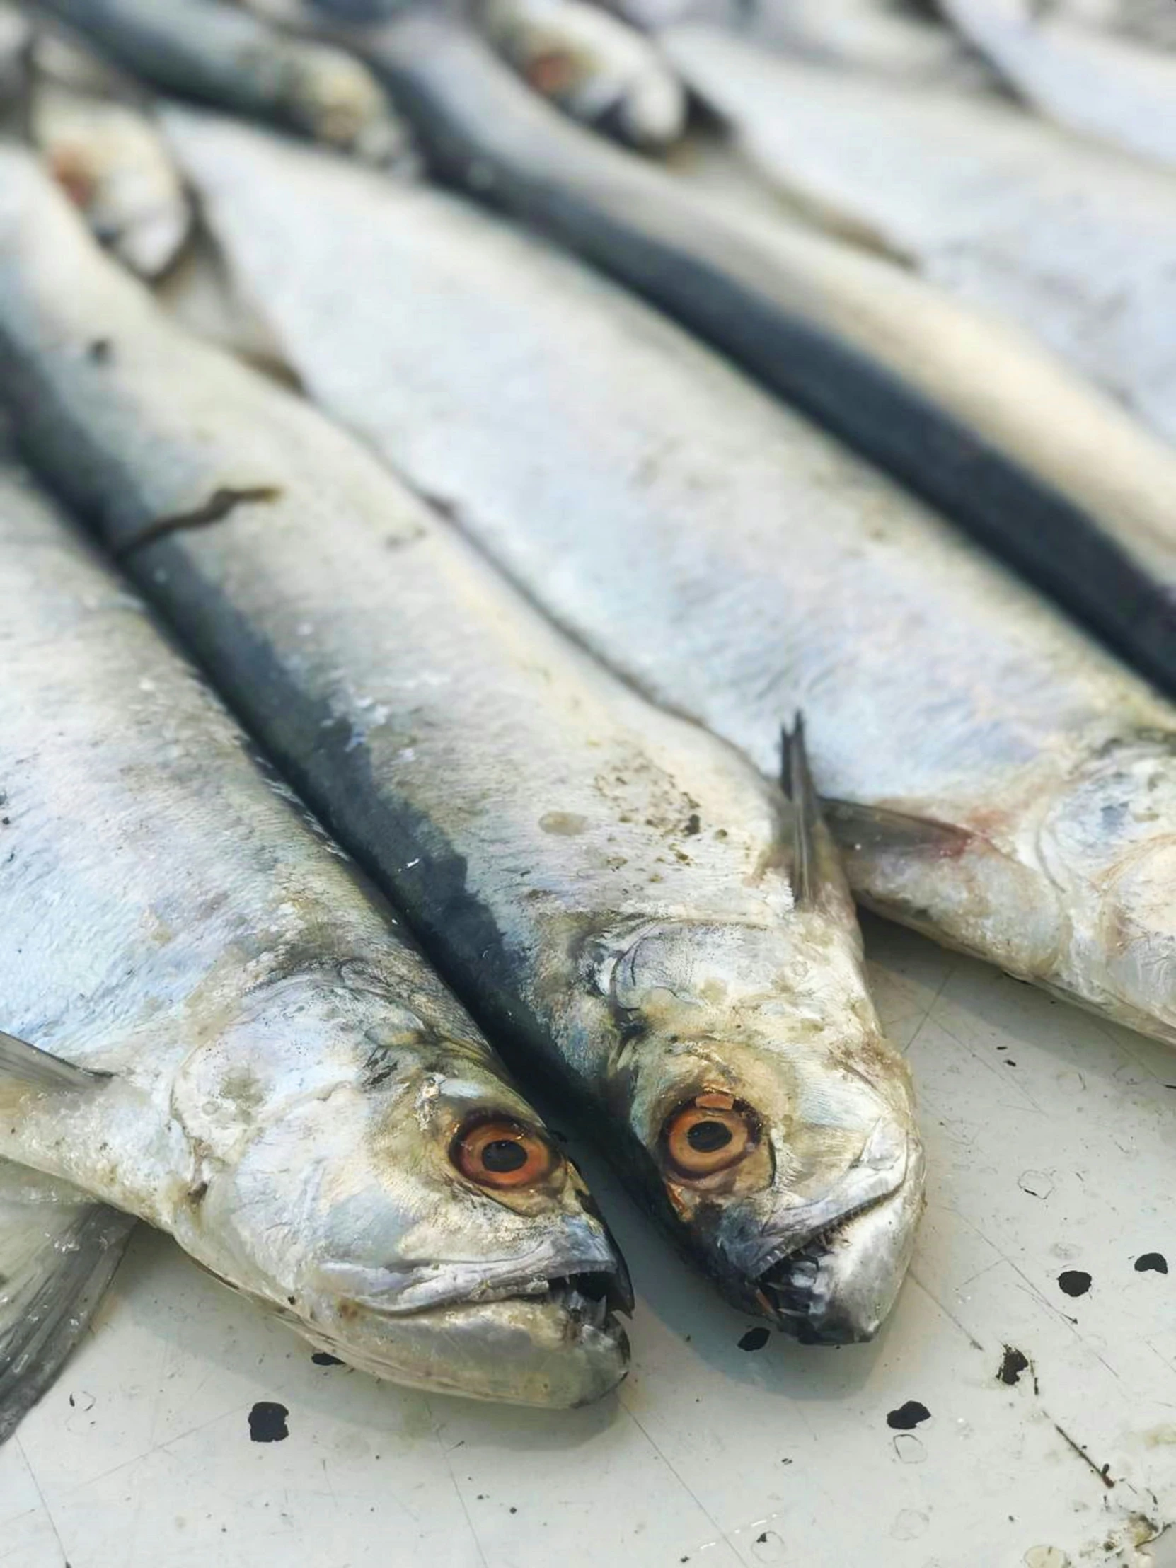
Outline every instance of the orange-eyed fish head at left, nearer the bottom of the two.
MULTIPOLYGON (((607 1392, 627 1367, 616 1314, 632 1290, 558 1142, 475 1036, 320 991, 296 988, 296 1016, 287 996, 246 1021, 249 1110, 202 1137, 220 1132, 221 1152, 180 1242, 378 1377, 539 1406, 607 1392)), ((196 1110, 240 1099, 232 1035, 196 1110)))

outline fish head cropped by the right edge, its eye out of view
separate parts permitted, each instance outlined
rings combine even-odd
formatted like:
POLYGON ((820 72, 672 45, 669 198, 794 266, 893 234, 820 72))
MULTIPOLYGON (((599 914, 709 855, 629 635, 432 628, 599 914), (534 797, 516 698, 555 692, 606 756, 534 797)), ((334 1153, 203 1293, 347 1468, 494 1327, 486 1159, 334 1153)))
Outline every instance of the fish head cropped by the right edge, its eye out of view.
POLYGON ((1094 753, 1036 836, 1069 911, 1057 989, 1176 1044, 1176 732, 1094 753))

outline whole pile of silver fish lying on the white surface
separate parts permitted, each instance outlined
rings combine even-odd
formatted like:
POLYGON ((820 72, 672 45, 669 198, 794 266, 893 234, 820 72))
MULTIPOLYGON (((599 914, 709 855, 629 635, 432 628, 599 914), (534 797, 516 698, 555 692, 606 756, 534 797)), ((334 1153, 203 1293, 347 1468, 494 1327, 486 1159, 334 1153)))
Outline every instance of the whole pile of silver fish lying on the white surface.
POLYGON ((0 0, 0 1438, 136 1220, 607 1392, 516 1079, 869 1339, 855 898, 1176 1044, 1176 28, 1041 11, 0 0))

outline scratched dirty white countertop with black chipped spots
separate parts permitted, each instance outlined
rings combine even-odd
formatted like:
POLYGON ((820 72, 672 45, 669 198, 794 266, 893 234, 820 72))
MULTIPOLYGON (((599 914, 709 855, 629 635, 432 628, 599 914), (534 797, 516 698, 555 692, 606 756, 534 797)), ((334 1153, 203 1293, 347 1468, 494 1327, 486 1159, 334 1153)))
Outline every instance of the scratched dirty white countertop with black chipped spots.
POLYGON ((629 1381, 566 1414, 317 1366, 143 1229, 0 1449, 0 1565, 1173 1568, 1176 1052, 894 927, 867 941, 930 1165, 875 1344, 740 1348, 753 1320, 579 1145, 640 1300, 629 1381))

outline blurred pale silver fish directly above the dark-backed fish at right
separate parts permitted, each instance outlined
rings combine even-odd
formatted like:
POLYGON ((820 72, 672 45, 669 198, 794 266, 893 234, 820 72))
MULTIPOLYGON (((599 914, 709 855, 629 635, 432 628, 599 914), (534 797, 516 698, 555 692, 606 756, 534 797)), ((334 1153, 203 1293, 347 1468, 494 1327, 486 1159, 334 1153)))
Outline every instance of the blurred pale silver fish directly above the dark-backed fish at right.
POLYGON ((709 28, 663 47, 767 179, 1036 334, 1176 436, 1176 182, 977 96, 908 91, 709 28))

